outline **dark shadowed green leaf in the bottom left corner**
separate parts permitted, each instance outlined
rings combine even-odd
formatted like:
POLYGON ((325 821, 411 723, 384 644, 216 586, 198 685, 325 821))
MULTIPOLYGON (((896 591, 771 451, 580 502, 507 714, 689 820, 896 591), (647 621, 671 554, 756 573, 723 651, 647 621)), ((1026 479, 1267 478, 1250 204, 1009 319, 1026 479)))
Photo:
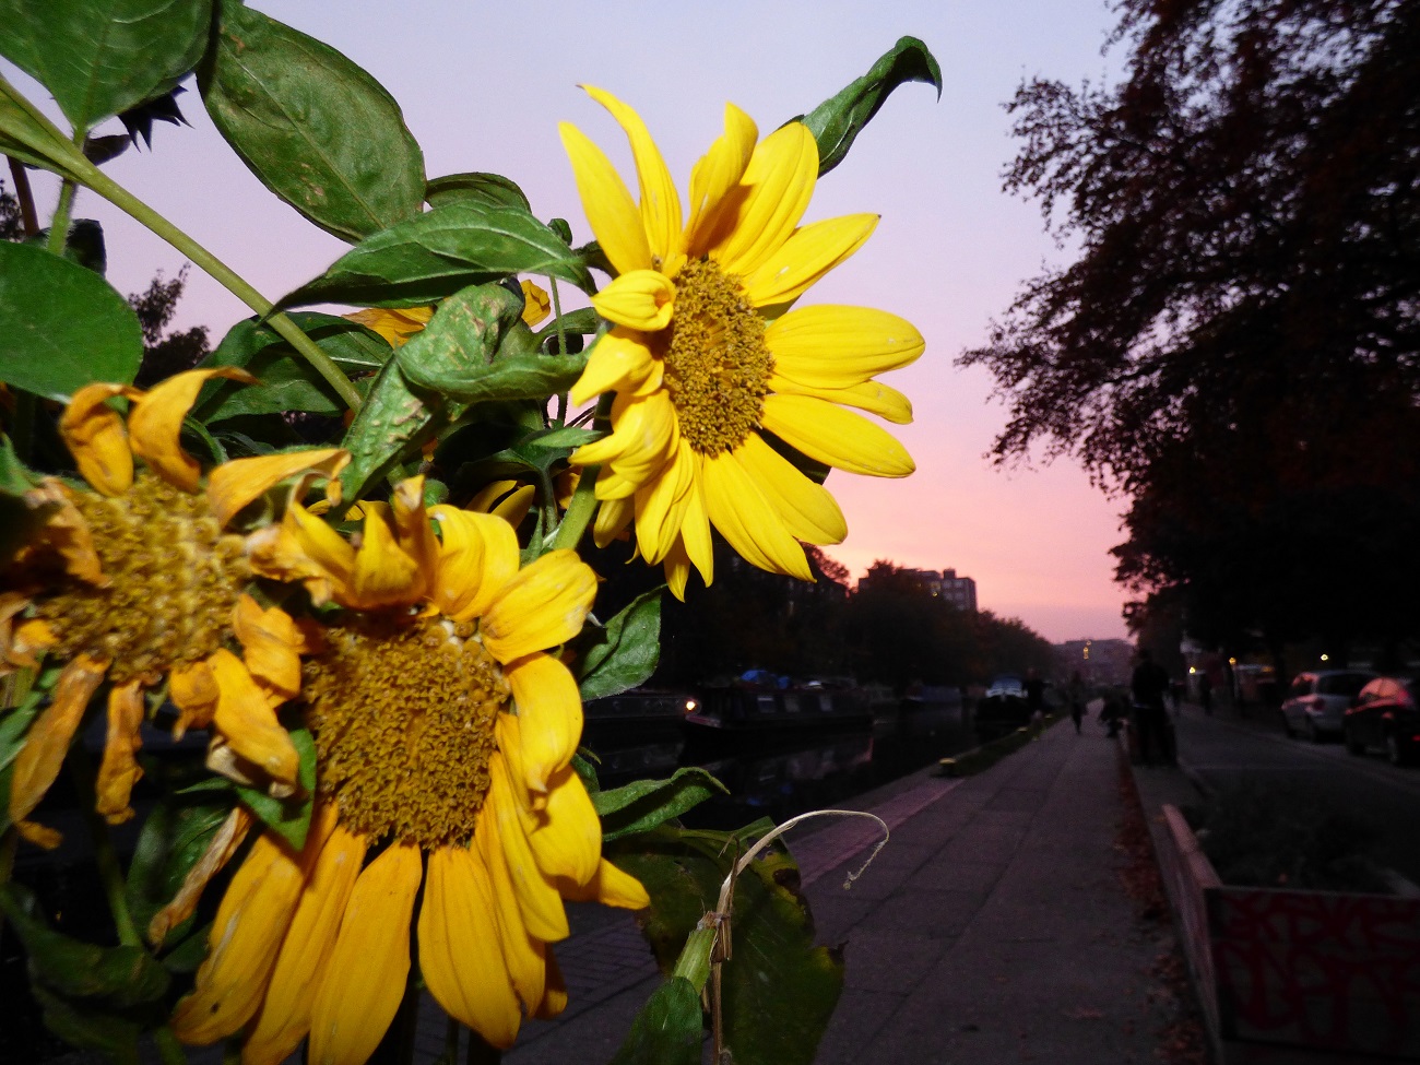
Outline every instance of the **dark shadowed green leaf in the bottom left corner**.
POLYGON ((98 998, 124 1008, 168 991, 168 971, 142 947, 99 947, 51 929, 18 883, 0 888, 0 910, 24 944, 38 980, 65 998, 98 998))

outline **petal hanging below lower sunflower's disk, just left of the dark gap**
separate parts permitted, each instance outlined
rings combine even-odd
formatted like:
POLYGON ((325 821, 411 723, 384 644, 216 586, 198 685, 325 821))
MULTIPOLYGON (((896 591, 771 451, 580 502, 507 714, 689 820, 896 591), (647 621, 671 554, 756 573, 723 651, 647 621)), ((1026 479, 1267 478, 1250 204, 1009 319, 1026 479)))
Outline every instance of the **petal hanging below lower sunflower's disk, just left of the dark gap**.
POLYGON ((422 879, 419 848, 390 843, 355 880, 311 1005, 312 1065, 362 1065, 379 1045, 405 995, 422 879))

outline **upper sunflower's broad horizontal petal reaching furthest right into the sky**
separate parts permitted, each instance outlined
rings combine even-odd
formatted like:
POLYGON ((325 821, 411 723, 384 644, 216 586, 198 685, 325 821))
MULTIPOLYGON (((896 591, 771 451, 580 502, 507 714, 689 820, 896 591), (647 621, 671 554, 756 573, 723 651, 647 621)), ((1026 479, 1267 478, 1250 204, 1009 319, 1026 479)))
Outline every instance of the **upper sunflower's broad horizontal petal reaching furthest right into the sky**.
POLYGON ((802 307, 764 331, 775 375, 812 388, 852 388, 922 355, 922 334, 868 307, 802 307))

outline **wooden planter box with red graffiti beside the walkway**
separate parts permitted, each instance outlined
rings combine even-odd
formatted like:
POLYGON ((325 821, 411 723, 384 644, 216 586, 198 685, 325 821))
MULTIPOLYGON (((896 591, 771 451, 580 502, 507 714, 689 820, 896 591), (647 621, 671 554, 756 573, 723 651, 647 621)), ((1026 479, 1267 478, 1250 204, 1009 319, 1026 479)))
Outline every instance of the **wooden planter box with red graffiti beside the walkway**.
POLYGON ((1420 1061, 1420 897, 1228 886, 1179 809, 1163 816, 1159 865, 1223 1061, 1420 1061))

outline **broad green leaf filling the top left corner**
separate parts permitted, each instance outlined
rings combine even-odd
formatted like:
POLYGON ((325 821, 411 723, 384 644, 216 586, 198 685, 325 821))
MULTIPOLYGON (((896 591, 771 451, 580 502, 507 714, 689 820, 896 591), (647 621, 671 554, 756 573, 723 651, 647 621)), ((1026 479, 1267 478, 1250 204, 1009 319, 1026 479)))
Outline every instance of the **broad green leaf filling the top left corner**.
POLYGON ((212 0, 0 0, 0 55, 81 133, 166 92, 202 58, 212 0))

